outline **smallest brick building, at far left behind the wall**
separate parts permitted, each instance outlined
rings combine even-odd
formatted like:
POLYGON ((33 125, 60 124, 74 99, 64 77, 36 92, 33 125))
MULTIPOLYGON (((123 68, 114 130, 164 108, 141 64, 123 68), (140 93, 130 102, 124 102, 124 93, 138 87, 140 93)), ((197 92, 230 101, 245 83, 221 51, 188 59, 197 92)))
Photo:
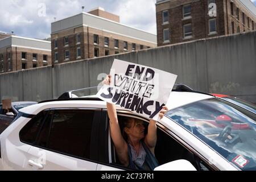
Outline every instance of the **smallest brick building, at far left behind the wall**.
POLYGON ((0 73, 51 65, 51 42, 7 36, 0 40, 0 73))

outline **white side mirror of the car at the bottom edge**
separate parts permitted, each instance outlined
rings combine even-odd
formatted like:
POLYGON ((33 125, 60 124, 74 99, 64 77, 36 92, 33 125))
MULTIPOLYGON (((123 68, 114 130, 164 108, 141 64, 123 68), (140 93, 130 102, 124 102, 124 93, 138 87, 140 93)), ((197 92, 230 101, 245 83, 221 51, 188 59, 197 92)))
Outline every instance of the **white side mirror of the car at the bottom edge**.
POLYGON ((188 160, 180 159, 158 166, 154 171, 196 171, 196 168, 188 160))

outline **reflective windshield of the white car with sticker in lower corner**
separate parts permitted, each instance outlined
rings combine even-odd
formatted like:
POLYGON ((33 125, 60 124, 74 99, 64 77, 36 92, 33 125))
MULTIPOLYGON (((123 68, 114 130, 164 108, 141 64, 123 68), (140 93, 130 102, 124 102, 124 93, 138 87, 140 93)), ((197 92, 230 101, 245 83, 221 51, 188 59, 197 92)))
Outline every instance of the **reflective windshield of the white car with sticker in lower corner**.
POLYGON ((210 98, 167 112, 234 166, 256 170, 256 115, 218 98, 210 98))

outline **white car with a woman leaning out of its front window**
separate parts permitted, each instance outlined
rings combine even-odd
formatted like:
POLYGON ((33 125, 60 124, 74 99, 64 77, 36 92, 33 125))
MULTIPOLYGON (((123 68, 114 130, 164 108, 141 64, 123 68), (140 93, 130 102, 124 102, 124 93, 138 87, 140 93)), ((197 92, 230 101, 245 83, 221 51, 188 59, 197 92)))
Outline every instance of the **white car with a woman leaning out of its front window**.
MULTIPOLYGON (((115 154, 106 102, 61 98, 20 109, 0 135, 1 170, 129 170, 115 154)), ((204 93, 176 89, 157 122, 154 170, 255 170, 256 116, 204 93), (184 92, 185 91, 185 92, 184 92)), ((117 107, 122 117, 143 118, 117 107)), ((122 127, 122 125, 121 125, 122 127)))

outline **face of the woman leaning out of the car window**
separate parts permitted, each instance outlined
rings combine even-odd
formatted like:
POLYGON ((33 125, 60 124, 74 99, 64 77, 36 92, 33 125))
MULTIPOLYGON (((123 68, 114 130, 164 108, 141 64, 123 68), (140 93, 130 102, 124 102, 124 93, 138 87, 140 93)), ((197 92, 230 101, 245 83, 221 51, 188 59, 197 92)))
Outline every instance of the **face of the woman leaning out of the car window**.
POLYGON ((143 121, 141 121, 139 119, 134 119, 134 118, 131 118, 131 119, 132 119, 131 127, 127 128, 128 129, 127 134, 130 135, 130 137, 134 137, 137 139, 144 138, 145 137, 145 135, 144 135, 145 127, 143 125, 143 121))

